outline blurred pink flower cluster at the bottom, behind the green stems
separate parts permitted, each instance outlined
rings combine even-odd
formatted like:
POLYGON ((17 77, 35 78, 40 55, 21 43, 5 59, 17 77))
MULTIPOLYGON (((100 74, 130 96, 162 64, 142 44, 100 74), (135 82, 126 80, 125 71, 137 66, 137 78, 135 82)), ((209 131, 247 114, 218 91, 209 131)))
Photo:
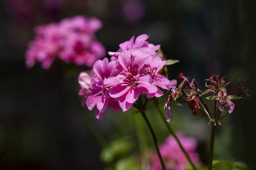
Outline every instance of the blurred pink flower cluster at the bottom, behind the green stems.
MULTIPOLYGON (((185 137, 178 134, 180 142, 184 149, 188 152, 188 155, 192 161, 196 164, 200 164, 200 158, 196 153, 197 141, 192 137, 185 137)), ((159 147, 166 169, 168 170, 185 170, 188 166, 188 160, 185 154, 180 149, 177 141, 172 135, 170 135, 166 141, 159 147)), ((150 170, 162 170, 159 158, 157 155, 151 160, 150 170)))

